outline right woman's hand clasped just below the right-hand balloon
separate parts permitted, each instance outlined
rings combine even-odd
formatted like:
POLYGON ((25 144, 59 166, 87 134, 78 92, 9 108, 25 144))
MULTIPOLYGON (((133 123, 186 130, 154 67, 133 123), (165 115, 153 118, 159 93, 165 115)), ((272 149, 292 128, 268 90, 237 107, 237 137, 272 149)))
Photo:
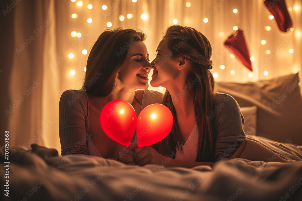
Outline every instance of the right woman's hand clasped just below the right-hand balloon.
POLYGON ((165 156, 159 154, 155 149, 149 146, 143 146, 135 149, 134 162, 137 165, 161 164, 165 156))

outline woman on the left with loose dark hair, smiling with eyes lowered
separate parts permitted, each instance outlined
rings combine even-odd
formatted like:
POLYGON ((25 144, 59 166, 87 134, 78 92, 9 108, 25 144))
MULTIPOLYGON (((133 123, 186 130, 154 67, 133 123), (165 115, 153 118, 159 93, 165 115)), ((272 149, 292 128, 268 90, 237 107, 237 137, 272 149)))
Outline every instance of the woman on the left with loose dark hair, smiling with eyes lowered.
MULTIPOLYGON (((105 30, 93 45, 87 60, 85 80, 80 90, 66 90, 59 102, 61 155, 86 154, 119 159, 121 145, 101 128, 100 114, 112 100, 125 100, 137 116, 147 105, 160 103, 162 93, 147 90, 152 68, 140 30, 105 30), (143 90, 137 90, 143 89, 143 90)), ((133 135, 132 142, 136 142, 133 135)), ((131 158, 132 157, 132 158, 131 158)), ((122 162, 133 163, 123 154, 122 162)))

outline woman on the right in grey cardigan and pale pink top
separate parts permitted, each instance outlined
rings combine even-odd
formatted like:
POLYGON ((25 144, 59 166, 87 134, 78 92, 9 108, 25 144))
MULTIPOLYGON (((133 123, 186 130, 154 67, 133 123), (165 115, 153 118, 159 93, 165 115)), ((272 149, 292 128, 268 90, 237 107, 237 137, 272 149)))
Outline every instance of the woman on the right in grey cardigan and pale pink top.
POLYGON ((173 127, 162 141, 135 147, 135 164, 191 168, 234 157, 265 161, 272 155, 275 162, 287 162, 246 139, 238 103, 232 96, 215 91, 210 71, 212 48, 202 33, 173 25, 156 52, 150 84, 167 89, 162 104, 172 111, 173 127))

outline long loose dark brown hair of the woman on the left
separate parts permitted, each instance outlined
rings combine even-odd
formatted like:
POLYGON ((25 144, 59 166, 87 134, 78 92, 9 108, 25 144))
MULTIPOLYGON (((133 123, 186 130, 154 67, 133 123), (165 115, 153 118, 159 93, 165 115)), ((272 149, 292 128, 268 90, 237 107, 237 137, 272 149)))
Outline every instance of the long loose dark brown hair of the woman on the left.
POLYGON ((114 28, 103 31, 89 53, 80 91, 97 97, 108 96, 116 87, 115 77, 126 59, 129 47, 145 39, 146 35, 141 30, 114 28))

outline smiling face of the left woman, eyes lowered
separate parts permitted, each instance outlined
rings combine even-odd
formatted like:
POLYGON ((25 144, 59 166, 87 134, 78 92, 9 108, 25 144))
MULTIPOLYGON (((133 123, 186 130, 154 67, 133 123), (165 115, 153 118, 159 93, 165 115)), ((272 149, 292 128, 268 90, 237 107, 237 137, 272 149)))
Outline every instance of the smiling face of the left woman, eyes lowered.
POLYGON ((127 86, 147 89, 148 74, 152 68, 149 61, 146 45, 142 41, 132 43, 117 78, 127 86))

